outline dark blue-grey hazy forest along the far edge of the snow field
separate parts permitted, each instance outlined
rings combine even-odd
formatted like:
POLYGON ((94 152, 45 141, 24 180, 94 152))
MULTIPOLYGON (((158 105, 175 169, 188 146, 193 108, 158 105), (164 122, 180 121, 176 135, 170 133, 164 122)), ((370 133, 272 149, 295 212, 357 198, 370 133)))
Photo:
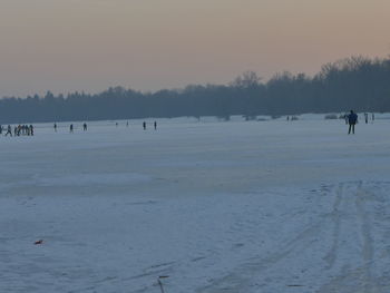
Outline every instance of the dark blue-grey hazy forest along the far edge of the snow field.
POLYGON ((0 124, 131 119, 147 117, 390 111, 390 57, 351 57, 330 62, 313 77, 277 74, 264 82, 247 71, 228 85, 140 92, 123 87, 97 95, 47 92, 0 99, 0 124))

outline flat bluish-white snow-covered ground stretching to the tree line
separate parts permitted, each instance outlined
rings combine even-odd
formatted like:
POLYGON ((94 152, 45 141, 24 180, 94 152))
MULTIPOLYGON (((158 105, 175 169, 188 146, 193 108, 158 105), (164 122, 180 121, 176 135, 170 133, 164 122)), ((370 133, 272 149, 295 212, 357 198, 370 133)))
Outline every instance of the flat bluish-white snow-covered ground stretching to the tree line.
POLYGON ((0 137, 0 292, 390 292, 390 120, 323 116, 0 137))

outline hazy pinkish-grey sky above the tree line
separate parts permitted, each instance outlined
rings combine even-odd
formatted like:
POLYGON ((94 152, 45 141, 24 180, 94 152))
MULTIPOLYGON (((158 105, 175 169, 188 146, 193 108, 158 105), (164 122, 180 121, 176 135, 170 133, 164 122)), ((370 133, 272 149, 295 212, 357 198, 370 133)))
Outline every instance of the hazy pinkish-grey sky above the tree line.
POLYGON ((0 0, 0 96, 226 84, 390 53, 389 0, 0 0))

